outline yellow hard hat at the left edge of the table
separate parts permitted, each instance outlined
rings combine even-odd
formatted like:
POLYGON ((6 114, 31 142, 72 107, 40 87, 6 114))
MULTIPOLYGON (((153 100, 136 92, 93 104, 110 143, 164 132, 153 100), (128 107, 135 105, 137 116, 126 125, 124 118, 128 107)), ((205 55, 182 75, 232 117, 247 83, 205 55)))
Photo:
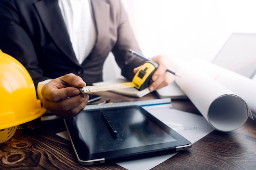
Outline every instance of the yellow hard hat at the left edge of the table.
POLYGON ((0 50, 0 143, 10 139, 18 125, 45 112, 26 68, 0 50))

